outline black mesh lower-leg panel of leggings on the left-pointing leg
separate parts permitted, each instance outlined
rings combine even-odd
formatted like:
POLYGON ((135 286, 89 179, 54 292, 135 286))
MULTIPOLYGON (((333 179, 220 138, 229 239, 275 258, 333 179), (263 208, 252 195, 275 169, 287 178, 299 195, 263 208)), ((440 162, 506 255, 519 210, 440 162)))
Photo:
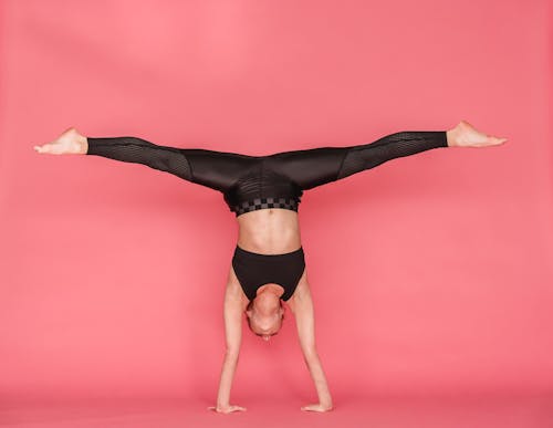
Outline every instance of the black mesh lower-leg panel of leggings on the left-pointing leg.
POLYGON ((136 137, 87 137, 86 139, 88 142, 87 155, 143 164, 175 174, 185 180, 192 180, 188 159, 176 147, 159 146, 136 137))

